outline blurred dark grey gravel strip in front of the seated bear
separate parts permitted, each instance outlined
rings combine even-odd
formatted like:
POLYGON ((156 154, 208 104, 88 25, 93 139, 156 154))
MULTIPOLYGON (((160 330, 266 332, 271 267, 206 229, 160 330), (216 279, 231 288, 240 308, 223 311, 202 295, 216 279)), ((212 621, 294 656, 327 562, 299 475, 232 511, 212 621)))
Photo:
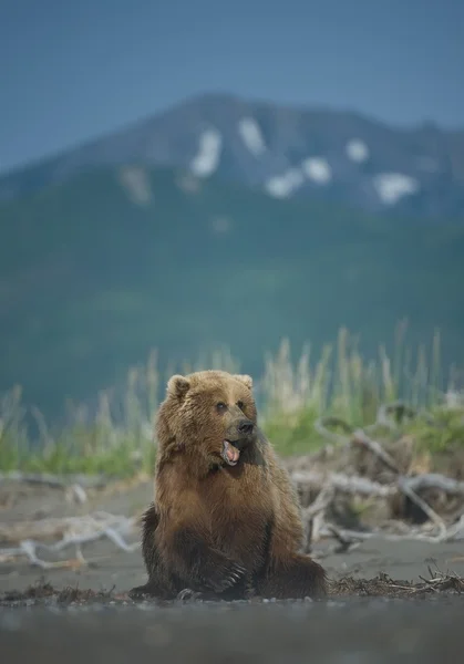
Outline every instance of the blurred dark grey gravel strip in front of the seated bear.
POLYGON ((458 662, 464 599, 3 609, 9 664, 458 662))

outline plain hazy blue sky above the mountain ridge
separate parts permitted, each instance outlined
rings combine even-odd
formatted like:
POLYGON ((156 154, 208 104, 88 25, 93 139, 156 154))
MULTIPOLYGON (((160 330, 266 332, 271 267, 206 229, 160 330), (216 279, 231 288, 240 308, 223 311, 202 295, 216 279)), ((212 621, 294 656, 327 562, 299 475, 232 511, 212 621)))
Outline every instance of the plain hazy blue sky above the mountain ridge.
POLYGON ((0 0, 0 170, 204 91, 464 126, 463 0, 0 0))

